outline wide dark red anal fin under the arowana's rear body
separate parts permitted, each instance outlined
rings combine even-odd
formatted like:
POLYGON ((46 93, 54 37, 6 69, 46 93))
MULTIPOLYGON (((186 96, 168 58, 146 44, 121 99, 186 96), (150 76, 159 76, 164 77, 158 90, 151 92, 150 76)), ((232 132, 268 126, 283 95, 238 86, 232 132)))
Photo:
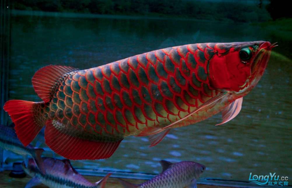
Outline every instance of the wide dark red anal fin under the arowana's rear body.
POLYGON ((120 142, 95 142, 67 135, 57 130, 52 121, 48 121, 45 129, 46 144, 57 154, 72 160, 106 159, 118 148, 120 142))

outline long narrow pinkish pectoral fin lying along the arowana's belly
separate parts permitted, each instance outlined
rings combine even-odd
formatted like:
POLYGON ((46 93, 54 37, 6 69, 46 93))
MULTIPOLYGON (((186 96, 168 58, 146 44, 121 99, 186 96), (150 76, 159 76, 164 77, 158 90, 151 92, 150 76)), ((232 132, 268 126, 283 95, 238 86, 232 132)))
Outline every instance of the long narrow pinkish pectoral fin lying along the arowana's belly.
POLYGON ((195 113, 197 113, 199 111, 206 111, 206 110, 212 108, 218 102, 220 102, 220 100, 222 100, 225 96, 226 96, 226 93, 220 93, 220 94, 216 95, 215 97, 209 99, 207 102, 203 103, 199 108, 197 108, 196 110, 194 110, 193 112, 191 112, 189 115, 185 116, 184 118, 182 118, 182 119, 180 119, 178 121, 175 121, 175 122, 171 123, 170 125, 164 127, 163 129, 171 128, 175 124, 177 124, 180 121, 183 121, 183 120, 189 118, 190 116, 192 116, 193 114, 195 114, 195 113))

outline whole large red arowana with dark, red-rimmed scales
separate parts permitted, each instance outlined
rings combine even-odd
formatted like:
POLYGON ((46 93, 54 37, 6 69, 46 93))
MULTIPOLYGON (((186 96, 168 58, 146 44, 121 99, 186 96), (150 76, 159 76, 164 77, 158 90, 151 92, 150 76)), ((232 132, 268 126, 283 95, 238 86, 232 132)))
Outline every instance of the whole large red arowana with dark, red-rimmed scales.
POLYGON ((273 47, 266 41, 199 43, 86 70, 49 65, 32 78, 43 101, 10 100, 4 110, 24 145, 46 125, 46 144, 65 158, 108 158, 129 135, 149 135, 153 146, 171 128, 218 112, 222 123, 233 119, 273 47))

